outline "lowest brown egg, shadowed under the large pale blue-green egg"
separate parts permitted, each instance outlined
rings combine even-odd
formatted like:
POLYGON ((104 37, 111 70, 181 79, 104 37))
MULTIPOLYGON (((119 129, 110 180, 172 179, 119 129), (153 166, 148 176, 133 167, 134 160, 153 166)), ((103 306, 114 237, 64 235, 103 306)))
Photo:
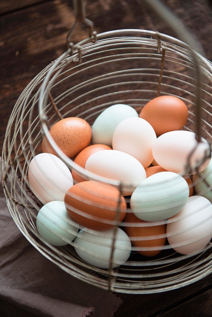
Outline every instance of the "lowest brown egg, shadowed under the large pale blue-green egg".
MULTIPOLYGON (((157 226, 143 226, 147 222, 138 219, 131 211, 126 213, 124 218, 125 223, 138 223, 139 227, 124 227, 127 235, 129 236, 131 243, 137 248, 150 248, 155 247, 156 250, 137 250, 138 253, 143 256, 156 256, 159 254, 166 243, 166 225, 161 224, 157 226), (163 235, 163 237, 157 238, 157 236, 163 235), (136 237, 145 239, 149 237, 149 240, 134 240, 136 237), (154 238, 153 238, 154 237, 154 238), (133 239, 134 238, 134 239, 133 239)), ((152 224, 152 223, 151 223, 152 224)))

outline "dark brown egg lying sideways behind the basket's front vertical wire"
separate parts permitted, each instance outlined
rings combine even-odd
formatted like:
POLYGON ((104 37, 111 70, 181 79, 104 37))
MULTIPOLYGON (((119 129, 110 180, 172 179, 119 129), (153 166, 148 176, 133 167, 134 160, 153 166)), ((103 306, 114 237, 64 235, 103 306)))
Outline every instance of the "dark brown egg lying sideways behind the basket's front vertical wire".
MULTIPOLYGON (((113 227, 113 223, 107 221, 116 219, 119 195, 119 191, 109 184, 86 181, 72 186, 65 195, 64 203, 70 217, 83 227, 108 230, 113 227)), ((125 217, 126 208, 124 197, 121 196, 119 223, 125 217)))

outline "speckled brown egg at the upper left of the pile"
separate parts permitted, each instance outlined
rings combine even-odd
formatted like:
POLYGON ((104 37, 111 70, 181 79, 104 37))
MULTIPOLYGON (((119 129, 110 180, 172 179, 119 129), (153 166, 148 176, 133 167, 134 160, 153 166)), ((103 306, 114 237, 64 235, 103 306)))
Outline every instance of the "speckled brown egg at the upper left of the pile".
MULTIPOLYGON (((89 145, 91 127, 87 121, 81 118, 70 117, 56 122, 51 127, 50 134, 63 153, 69 158, 73 158, 89 145)), ((46 139, 43 139, 42 143, 43 152, 55 154, 46 139)))

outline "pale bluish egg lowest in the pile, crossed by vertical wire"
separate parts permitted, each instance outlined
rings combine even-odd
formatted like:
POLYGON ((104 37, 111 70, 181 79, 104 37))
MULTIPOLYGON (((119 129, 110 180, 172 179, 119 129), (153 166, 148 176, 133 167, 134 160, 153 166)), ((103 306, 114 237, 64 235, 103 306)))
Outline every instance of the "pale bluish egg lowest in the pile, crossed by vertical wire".
MULTIPOLYGON (((109 268, 111 245, 114 230, 87 231, 83 229, 78 232, 74 243, 75 251, 83 261, 97 268, 109 268)), ((124 264, 131 253, 131 243, 127 234, 117 228, 112 268, 124 264)))

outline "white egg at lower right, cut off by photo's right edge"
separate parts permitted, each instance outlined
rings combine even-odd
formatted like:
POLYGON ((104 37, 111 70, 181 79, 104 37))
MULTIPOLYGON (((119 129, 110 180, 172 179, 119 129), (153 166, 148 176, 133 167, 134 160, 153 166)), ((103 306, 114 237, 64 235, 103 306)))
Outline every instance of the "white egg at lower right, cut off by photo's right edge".
POLYGON ((170 246, 181 254, 195 254, 212 238, 212 205, 201 196, 189 197, 187 204, 167 223, 170 246))

